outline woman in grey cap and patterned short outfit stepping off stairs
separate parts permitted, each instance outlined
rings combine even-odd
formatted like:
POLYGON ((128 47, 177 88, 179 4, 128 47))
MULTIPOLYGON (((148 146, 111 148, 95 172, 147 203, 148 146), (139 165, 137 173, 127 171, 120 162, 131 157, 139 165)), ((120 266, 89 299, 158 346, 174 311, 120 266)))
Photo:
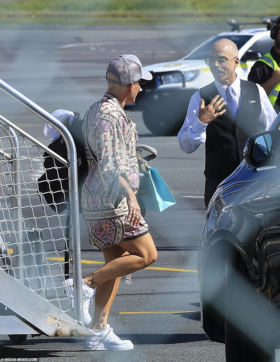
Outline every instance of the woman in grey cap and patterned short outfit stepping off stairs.
POLYGON ((136 125, 124 111, 150 79, 151 73, 143 71, 135 55, 114 58, 106 71, 108 92, 84 117, 89 172, 82 188, 82 211, 89 243, 101 249, 105 259, 101 268, 83 277, 83 289, 96 288, 91 328, 97 337, 85 339, 86 349, 133 349, 131 341, 120 340, 107 324, 110 307, 121 277, 157 258, 135 196, 139 187, 136 125))

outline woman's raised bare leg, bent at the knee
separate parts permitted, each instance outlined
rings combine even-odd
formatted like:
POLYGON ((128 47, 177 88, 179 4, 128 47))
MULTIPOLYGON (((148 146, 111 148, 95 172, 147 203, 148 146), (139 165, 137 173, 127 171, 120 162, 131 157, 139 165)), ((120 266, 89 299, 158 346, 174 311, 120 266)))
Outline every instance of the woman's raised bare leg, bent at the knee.
POLYGON ((85 276, 84 281, 89 287, 95 288, 112 279, 112 276, 119 278, 136 270, 144 269, 157 258, 157 251, 150 233, 134 240, 122 241, 117 246, 129 254, 119 256, 85 276))

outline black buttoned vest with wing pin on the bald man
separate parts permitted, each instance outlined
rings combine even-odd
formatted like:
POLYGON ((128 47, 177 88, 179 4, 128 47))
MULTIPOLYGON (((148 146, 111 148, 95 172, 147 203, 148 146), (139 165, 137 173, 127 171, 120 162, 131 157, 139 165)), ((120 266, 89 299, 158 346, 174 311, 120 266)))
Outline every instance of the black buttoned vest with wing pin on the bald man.
MULTIPOLYGON (((219 94, 214 82, 199 91, 205 105, 219 94)), ((223 109, 227 109, 226 106, 223 109)), ((244 158, 243 150, 248 138, 260 131, 258 121, 261 111, 258 87, 255 83, 241 80, 237 121, 227 110, 206 127, 205 177, 221 182, 238 167, 244 158)))

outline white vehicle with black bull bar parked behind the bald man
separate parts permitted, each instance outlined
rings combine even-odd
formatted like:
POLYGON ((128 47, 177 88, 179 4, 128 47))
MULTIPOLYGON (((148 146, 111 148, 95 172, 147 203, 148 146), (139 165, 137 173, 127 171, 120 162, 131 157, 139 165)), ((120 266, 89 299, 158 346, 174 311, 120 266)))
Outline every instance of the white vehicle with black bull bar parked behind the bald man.
POLYGON ((229 20, 231 31, 208 39, 184 58, 143 67, 152 73, 153 79, 147 81, 143 92, 138 94, 135 109, 142 110, 147 128, 164 136, 174 135, 180 130, 192 94, 214 80, 204 59, 208 58, 211 45, 218 39, 227 38, 237 45, 240 60, 237 72, 241 79, 247 80, 255 61, 273 46, 269 30, 276 18, 262 18, 261 24, 266 24, 266 28, 242 30, 239 30, 239 25, 252 23, 236 24, 233 19, 229 20))

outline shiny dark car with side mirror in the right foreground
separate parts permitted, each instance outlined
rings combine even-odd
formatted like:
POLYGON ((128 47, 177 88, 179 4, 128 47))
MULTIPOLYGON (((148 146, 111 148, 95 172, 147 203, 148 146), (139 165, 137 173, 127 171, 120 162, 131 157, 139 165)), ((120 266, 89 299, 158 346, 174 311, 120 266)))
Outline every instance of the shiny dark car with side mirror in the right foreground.
POLYGON ((272 362, 280 341, 280 114, 217 188, 198 254, 201 322, 227 362, 272 362))

